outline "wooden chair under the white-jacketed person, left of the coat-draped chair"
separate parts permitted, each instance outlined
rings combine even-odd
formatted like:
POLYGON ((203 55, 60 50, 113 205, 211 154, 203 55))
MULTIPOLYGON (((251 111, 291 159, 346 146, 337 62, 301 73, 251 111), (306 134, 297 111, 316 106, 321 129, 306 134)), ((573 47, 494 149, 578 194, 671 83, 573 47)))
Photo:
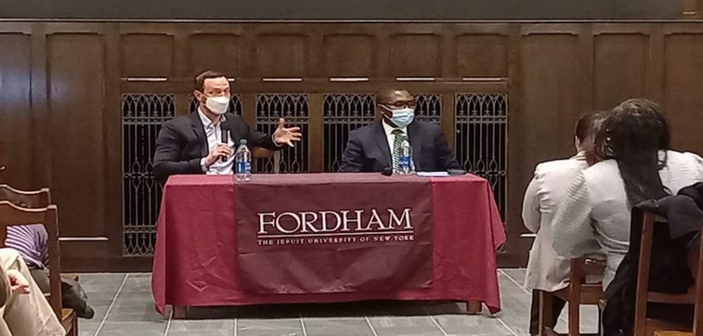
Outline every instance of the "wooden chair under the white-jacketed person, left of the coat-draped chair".
POLYGON ((581 335, 579 327, 581 304, 598 304, 605 299, 601 283, 586 283, 586 276, 602 275, 605 263, 581 257, 571 260, 569 286, 556 292, 540 291, 539 297, 539 330, 541 335, 558 335, 552 325, 553 300, 559 297, 569 302, 569 335, 581 335))

